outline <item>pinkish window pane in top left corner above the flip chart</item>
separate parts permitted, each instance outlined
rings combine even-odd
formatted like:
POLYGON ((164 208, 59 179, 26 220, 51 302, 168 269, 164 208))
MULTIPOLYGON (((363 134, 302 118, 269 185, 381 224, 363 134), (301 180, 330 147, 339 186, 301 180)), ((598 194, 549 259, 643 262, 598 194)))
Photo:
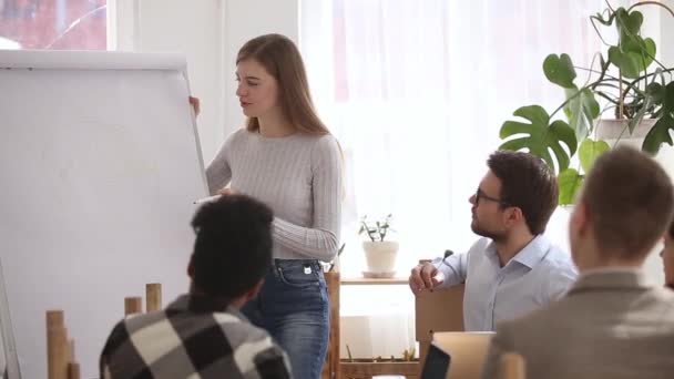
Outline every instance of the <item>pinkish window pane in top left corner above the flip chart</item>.
POLYGON ((105 50, 106 0, 0 0, 0 49, 105 50))

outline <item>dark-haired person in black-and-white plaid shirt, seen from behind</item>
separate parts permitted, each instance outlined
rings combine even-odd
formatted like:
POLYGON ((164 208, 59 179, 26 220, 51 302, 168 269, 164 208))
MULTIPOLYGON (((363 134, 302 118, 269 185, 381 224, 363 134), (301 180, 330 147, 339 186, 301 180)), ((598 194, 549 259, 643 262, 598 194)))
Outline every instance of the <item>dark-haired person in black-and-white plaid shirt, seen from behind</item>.
POLYGON ((285 352, 238 309, 272 263, 272 211, 244 195, 202 206, 187 273, 190 294, 112 330, 101 378, 290 378, 285 352))

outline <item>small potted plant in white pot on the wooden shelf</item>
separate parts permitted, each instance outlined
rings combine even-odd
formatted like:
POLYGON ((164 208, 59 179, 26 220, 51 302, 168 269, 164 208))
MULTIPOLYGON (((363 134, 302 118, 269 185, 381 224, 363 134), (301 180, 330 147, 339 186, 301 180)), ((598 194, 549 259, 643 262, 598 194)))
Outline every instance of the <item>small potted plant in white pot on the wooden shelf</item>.
POLYGON ((362 242, 365 250, 365 259, 367 262, 367 272, 364 272, 365 277, 389 278, 396 274, 396 256, 398 255, 398 243, 394 240, 385 240, 386 236, 391 232, 390 223, 392 215, 386 216, 384 219, 369 222, 367 216, 360 219, 359 235, 367 235, 369 240, 362 242))

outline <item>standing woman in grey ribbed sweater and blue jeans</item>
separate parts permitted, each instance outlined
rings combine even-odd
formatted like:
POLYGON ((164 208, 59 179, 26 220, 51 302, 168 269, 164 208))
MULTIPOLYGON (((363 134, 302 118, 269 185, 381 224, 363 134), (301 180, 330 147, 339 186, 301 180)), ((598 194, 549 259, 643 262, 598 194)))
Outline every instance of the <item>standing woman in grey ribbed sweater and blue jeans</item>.
POLYGON ((236 80, 246 127, 227 137, 206 168, 208 187, 212 194, 253 196, 274 209, 274 264, 243 311, 287 351, 295 378, 317 379, 330 322, 319 262, 337 253, 341 152, 314 111, 302 57, 288 38, 246 42, 236 80))

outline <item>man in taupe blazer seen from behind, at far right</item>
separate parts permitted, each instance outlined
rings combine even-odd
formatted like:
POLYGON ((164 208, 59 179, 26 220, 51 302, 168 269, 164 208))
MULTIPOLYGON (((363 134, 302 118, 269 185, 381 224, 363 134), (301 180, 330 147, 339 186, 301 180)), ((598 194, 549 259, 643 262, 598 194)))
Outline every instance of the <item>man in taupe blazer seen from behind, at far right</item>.
POLYGON ((674 188, 651 157, 610 151, 585 178, 569 222, 581 276, 568 295, 498 326, 482 372, 524 357, 528 378, 671 378, 674 293, 647 283, 642 265, 672 217, 674 188))

